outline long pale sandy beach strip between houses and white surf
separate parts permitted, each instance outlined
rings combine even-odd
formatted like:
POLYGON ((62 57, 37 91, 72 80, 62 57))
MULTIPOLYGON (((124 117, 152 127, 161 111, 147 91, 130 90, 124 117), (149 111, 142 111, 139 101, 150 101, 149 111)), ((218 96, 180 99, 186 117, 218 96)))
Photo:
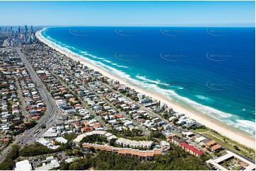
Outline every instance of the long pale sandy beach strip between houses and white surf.
POLYGON ((108 78, 120 81, 120 83, 123 83, 126 86, 136 90, 138 93, 143 93, 145 95, 148 95, 149 97, 152 97, 152 99, 157 99, 157 100, 160 100, 161 102, 165 102, 168 105, 168 107, 172 107, 174 109, 174 111, 182 112, 185 115, 187 115, 187 117, 189 117, 191 119, 195 119, 196 122, 204 124, 208 128, 218 131, 218 133, 220 133, 221 135, 226 136, 226 137, 232 139, 233 141, 237 141, 238 143, 241 143, 244 146, 255 149, 255 138, 253 138, 251 136, 244 135, 242 133, 242 131, 239 132, 238 130, 233 129, 230 126, 223 124, 222 122, 218 121, 217 119, 208 117, 206 114, 203 114, 201 112, 195 113, 192 110, 182 107, 179 104, 177 104, 177 102, 172 102, 171 100, 166 98, 164 95, 160 95, 159 93, 155 93, 151 90, 143 90, 142 88, 139 88, 138 86, 133 85, 133 83, 129 83, 129 81, 127 81, 125 78, 119 78, 118 76, 113 76, 113 73, 111 74, 108 71, 106 71, 106 69, 103 69, 100 66, 91 64, 91 62, 87 61, 86 59, 82 59, 81 57, 74 57, 74 56, 72 56, 72 54, 64 52, 62 49, 58 49, 58 47, 55 47, 54 45, 52 45, 50 40, 46 40, 45 37, 43 37, 43 35, 40 34, 42 31, 43 30, 38 31, 35 34, 35 36, 41 42, 45 43, 45 45, 48 45, 52 49, 56 49, 57 52, 60 52, 61 54, 65 54, 65 56, 67 56, 70 59, 73 59, 75 61, 80 61, 81 64, 88 66, 90 69, 99 71, 103 76, 107 76, 108 78))

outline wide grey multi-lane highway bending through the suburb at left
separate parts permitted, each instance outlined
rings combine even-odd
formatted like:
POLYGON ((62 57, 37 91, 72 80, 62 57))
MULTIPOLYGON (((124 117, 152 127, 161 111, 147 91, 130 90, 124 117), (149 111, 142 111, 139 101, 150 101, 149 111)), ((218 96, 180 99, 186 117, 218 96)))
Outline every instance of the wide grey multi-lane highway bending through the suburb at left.
MULTIPOLYGON (((16 51, 18 52, 18 55, 21 57, 21 61, 23 61, 23 64, 26 66, 26 69, 30 74, 30 78, 33 80, 33 83, 35 83, 35 85, 37 86, 38 93, 40 94, 40 97, 43 99, 47 107, 47 110, 43 115, 43 117, 41 117, 38 120, 38 124, 36 124, 33 128, 25 131, 23 135, 16 136, 17 139, 16 141, 13 142, 13 144, 19 144, 21 148, 23 148, 23 146, 25 146, 26 144, 30 144, 35 141, 35 134, 36 134, 35 130, 39 130, 41 124, 46 124, 49 126, 50 124, 54 123, 54 120, 52 119, 59 117, 62 112, 57 107, 57 105, 55 105, 55 101, 52 99, 50 93, 48 93, 48 90, 45 88, 44 84, 42 83, 38 75, 35 73, 32 66, 30 66, 30 64, 28 63, 28 60, 26 59, 26 57, 24 57, 24 55, 21 53, 21 49, 19 49, 18 47, 15 47, 14 49, 16 49, 16 51)), ((43 131, 46 131, 46 129, 42 130, 42 132, 43 131)), ((3 162, 4 158, 6 158, 6 155, 10 150, 11 150, 11 146, 7 147, 1 153, 0 163, 3 162)))

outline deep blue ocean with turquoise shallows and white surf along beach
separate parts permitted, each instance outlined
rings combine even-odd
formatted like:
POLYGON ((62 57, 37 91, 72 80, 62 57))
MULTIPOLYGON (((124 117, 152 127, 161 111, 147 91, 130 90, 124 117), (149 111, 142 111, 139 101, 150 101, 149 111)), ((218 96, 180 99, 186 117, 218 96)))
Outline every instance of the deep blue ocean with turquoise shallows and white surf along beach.
POLYGON ((255 137, 255 28, 60 27, 42 35, 255 137))

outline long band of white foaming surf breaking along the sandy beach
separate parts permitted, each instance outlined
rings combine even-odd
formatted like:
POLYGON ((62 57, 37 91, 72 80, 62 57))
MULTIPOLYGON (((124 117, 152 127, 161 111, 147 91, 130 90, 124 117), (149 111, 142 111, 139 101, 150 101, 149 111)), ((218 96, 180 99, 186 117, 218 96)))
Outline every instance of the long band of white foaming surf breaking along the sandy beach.
MULTIPOLYGON (((43 37, 43 36, 41 36, 41 37, 43 37)), ((135 76, 136 78, 139 78, 141 80, 141 81, 139 81, 137 79, 131 78, 130 75, 128 75, 127 73, 125 73, 123 71, 119 71, 118 69, 114 69, 111 66, 107 66, 106 64, 103 64, 101 61, 91 60, 87 57, 76 54, 65 47, 61 47, 60 45, 57 45, 55 42, 52 42, 45 37, 43 37, 43 38, 45 41, 49 42, 51 45, 57 47, 58 49, 62 49, 62 51, 67 52, 68 54, 72 54, 74 57, 79 57, 80 59, 86 59, 87 61, 89 61, 89 63, 94 64, 96 66, 100 66, 101 68, 106 69, 107 71, 113 71, 113 73, 115 73, 116 76, 124 78, 128 82, 133 83, 137 86, 140 86, 140 88, 145 88, 145 89, 155 91, 157 93, 167 96, 170 100, 175 98, 178 101, 186 102, 191 107, 194 107, 196 110, 199 110, 200 112, 203 112, 204 114, 207 114, 210 117, 218 119, 221 122, 226 123, 228 125, 233 125, 243 131, 247 131, 249 134, 252 134, 252 135, 255 134, 255 123, 253 123, 253 122, 246 121, 246 120, 239 120, 239 119, 237 120, 238 123, 232 122, 232 121, 230 121, 230 119, 228 119, 230 117, 233 117, 232 114, 221 112, 220 110, 216 110, 212 107, 201 105, 200 103, 190 100, 189 98, 184 98, 184 97, 178 95, 177 93, 175 93, 174 90, 165 90, 163 88, 160 88, 157 86, 158 84, 161 83, 160 81, 152 81, 148 78, 145 78, 145 76, 135 76), (147 82, 155 83, 155 84, 150 84, 147 82), (245 122, 246 122, 246 124, 245 124, 245 122), (248 124, 248 123, 250 123, 250 124, 248 124), (253 128, 252 128, 252 125, 254 125, 253 128)), ((98 59, 100 59, 100 58, 98 58, 98 59)), ((204 123, 202 123, 202 124, 204 124, 204 123)))

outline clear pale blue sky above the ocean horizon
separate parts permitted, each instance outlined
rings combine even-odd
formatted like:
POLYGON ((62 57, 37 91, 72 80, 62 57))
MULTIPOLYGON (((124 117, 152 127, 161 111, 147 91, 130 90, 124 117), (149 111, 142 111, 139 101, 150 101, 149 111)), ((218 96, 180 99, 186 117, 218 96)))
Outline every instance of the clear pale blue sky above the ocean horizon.
POLYGON ((255 1, 0 1, 0 25, 255 27, 255 1))

